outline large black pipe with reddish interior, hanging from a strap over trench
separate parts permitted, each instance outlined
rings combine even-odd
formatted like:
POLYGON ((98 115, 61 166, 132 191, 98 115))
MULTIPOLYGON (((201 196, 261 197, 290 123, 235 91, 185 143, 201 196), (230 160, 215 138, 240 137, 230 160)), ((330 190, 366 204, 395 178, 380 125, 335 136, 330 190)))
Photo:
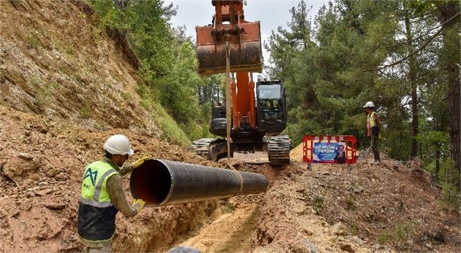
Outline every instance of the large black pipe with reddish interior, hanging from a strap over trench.
POLYGON ((150 206, 165 206, 266 191, 264 175, 162 159, 148 159, 133 170, 130 190, 150 206))

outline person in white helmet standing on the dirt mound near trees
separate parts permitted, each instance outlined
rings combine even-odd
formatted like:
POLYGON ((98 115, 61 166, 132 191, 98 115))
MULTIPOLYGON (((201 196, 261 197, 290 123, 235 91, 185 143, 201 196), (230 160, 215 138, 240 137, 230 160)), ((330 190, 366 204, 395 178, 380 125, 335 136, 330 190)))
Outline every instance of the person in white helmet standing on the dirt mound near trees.
POLYGON ((371 142, 371 150, 374 155, 374 162, 371 164, 380 164, 379 152, 378 152, 378 136, 381 128, 379 121, 379 115, 374 111, 374 103, 368 101, 363 106, 367 111, 367 137, 371 142))

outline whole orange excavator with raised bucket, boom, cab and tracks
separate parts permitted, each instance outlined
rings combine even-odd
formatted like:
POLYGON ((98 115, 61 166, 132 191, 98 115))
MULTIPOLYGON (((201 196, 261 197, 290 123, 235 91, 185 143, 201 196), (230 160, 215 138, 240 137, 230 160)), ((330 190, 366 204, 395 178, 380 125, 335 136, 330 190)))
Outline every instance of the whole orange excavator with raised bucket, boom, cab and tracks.
POLYGON ((243 0, 211 2, 212 24, 196 26, 199 74, 231 77, 226 87, 230 103, 212 108, 210 133, 222 138, 199 139, 192 150, 213 161, 236 151, 265 151, 271 164, 290 164, 290 138, 280 134, 287 126, 283 82, 253 81, 252 73, 262 72, 260 22, 244 19, 243 0))

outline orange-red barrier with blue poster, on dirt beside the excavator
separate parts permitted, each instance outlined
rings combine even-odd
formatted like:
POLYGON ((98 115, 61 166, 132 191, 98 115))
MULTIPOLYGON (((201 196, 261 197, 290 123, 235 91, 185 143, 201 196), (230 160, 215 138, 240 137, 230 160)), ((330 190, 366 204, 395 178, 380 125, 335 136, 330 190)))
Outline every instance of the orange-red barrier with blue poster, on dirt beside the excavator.
POLYGON ((305 135, 303 138, 303 162, 355 164, 357 162, 356 144, 357 139, 353 135, 305 135), (340 152, 342 149, 344 149, 344 153, 340 152), (338 153, 342 153, 342 155, 338 155, 338 153))

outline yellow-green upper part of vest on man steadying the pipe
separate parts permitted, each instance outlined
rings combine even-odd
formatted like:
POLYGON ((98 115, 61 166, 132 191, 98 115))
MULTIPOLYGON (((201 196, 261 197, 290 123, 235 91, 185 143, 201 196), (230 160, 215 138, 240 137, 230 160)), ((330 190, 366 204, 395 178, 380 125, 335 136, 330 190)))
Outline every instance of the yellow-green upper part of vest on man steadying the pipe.
POLYGON ((106 191, 106 182, 110 175, 116 173, 117 171, 105 162, 98 161, 88 165, 83 175, 81 202, 93 207, 110 207, 112 201, 106 191))

